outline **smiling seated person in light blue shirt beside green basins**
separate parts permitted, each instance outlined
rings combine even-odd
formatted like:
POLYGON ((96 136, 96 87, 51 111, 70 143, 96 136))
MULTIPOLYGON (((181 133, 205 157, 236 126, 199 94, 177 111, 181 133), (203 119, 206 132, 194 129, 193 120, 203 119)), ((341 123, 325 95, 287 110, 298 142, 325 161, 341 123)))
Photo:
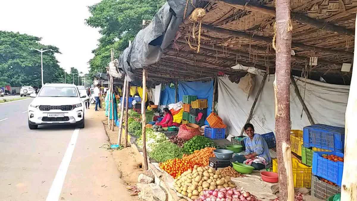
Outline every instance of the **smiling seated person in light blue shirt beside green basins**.
POLYGON ((245 139, 246 155, 237 155, 233 160, 262 170, 271 163, 268 144, 260 134, 254 133, 252 124, 245 124, 244 131, 248 136, 245 139))

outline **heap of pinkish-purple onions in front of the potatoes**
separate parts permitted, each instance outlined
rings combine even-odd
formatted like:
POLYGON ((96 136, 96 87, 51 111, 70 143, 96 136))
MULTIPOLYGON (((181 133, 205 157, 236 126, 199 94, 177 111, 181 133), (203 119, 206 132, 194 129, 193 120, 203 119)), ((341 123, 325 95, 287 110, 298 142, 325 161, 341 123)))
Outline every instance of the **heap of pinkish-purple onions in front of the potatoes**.
POLYGON ((225 187, 203 191, 195 201, 260 201, 249 192, 238 188, 225 187))

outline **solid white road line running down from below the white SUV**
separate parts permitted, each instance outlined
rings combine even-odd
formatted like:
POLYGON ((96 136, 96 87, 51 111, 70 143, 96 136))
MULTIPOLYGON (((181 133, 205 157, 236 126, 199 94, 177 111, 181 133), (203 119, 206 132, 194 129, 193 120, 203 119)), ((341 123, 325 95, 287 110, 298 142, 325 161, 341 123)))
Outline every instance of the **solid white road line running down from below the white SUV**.
POLYGON ((79 135, 79 130, 80 130, 79 128, 76 128, 73 131, 73 134, 72 134, 71 140, 68 144, 66 153, 65 153, 64 157, 62 158, 60 167, 57 170, 55 179, 52 182, 52 185, 51 185, 50 191, 48 192, 46 201, 56 201, 56 200, 59 200, 59 198, 60 198, 63 183, 65 181, 67 170, 68 170, 69 164, 72 159, 74 148, 76 146, 77 138, 79 135))

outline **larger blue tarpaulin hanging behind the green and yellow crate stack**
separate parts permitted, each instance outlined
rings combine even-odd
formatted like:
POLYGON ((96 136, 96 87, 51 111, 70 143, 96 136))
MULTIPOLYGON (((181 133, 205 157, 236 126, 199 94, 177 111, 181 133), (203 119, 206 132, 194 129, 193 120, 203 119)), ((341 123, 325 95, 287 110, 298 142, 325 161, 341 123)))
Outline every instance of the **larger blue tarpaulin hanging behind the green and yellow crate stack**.
MULTIPOLYGON (((207 99, 207 116, 212 112, 213 81, 210 82, 178 82, 178 101, 182 101, 183 95, 197 95, 198 99, 207 99)), ((174 90, 175 100, 175 90, 174 90)), ((205 121, 206 125, 209 125, 205 121)))

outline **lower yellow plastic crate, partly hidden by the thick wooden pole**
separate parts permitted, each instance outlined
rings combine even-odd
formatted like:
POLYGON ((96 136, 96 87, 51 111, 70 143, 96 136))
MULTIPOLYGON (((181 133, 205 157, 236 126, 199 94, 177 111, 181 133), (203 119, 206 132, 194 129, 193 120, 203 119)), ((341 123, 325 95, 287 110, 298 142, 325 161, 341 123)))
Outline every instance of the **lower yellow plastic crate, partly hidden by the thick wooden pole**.
MULTIPOLYGON (((296 158, 291 159, 292 162, 292 175, 295 188, 310 188, 311 187, 311 170, 312 167, 308 167, 300 163, 296 158)), ((278 160, 273 159, 273 172, 278 173, 278 160)))

